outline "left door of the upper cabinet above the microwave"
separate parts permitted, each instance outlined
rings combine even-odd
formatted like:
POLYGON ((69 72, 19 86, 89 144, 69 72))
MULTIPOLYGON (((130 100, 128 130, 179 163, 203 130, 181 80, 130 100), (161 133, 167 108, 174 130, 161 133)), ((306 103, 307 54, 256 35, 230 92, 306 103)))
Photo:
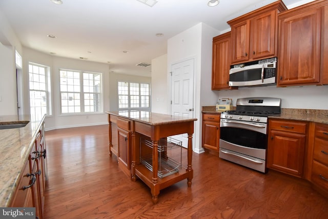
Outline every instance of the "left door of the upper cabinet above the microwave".
POLYGON ((247 61, 250 51, 250 21, 243 21, 231 27, 232 63, 247 61))

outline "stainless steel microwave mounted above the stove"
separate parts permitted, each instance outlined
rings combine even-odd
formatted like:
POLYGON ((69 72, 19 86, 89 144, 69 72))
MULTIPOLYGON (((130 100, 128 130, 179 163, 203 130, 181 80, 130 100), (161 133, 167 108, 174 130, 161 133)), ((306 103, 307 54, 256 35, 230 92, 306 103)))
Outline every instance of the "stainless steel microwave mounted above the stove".
POLYGON ((276 84, 277 58, 231 66, 229 86, 261 86, 276 84))

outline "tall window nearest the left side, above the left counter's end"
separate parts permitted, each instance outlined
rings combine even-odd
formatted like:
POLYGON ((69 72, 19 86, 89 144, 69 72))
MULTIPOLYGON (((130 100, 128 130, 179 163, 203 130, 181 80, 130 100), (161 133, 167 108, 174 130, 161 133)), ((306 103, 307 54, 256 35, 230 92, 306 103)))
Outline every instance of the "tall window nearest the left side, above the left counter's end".
POLYGON ((31 120, 40 120, 44 114, 51 115, 50 68, 29 63, 29 89, 31 120))

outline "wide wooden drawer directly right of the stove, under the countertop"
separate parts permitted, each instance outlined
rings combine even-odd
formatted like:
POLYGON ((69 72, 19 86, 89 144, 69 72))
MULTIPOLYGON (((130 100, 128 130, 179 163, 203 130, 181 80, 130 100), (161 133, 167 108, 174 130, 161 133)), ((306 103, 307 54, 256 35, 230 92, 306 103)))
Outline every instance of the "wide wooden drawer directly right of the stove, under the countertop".
POLYGON ((274 120, 269 122, 269 127, 270 129, 297 132, 303 134, 305 134, 306 132, 306 123, 299 123, 293 121, 274 120))

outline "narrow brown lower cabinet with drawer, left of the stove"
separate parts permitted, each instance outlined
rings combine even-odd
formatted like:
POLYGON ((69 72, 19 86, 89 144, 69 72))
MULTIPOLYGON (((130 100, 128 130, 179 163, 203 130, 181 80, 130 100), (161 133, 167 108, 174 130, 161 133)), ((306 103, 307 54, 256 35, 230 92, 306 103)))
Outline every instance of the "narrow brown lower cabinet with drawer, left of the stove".
POLYGON ((202 147, 213 151, 220 151, 220 114, 203 113, 202 147))

